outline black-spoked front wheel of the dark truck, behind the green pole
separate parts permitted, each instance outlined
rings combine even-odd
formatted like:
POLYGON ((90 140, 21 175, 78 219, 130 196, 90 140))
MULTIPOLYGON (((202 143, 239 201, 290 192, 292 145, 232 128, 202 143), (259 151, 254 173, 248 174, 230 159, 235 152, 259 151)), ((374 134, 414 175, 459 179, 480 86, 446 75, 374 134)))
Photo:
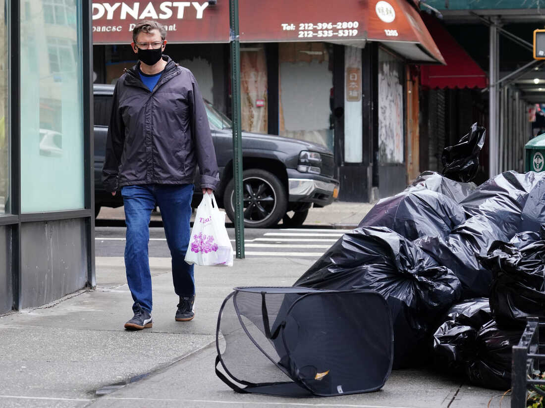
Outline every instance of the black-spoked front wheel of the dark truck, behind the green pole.
MULTIPOLYGON (((243 172, 244 227, 268 228, 275 226, 286 214, 287 199, 284 186, 277 176, 261 169, 243 172)), ((229 181, 223 194, 223 206, 234 222, 234 179, 229 181)))

